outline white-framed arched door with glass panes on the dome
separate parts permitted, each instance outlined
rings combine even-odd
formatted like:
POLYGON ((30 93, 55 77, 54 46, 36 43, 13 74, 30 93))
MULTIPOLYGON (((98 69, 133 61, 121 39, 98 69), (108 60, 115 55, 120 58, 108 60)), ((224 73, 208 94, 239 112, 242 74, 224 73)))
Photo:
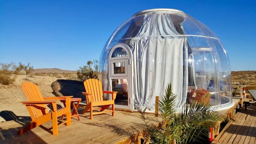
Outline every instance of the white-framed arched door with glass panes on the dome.
POLYGON ((116 91, 115 108, 132 109, 131 52, 126 44, 116 44, 108 58, 109 91, 116 91))

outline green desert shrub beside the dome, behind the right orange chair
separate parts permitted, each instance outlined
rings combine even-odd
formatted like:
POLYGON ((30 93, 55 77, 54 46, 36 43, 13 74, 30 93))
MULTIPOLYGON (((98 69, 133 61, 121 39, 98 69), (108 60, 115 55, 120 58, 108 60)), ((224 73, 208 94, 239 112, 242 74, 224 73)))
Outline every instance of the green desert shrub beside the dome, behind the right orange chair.
POLYGON ((98 60, 87 61, 87 65, 79 67, 76 74, 77 78, 81 81, 90 78, 98 79, 98 60))

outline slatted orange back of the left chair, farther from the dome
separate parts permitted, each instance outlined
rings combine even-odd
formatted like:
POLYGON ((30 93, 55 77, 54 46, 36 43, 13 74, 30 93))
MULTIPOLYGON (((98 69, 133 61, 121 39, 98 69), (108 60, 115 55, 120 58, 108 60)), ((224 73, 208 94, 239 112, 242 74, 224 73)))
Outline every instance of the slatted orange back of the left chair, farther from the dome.
MULTIPOLYGON (((42 97, 42 94, 36 84, 30 83, 30 82, 23 82, 21 84, 21 90, 26 95, 28 101, 42 101, 44 100, 42 97)), ((47 108, 45 105, 35 105, 34 107, 31 107, 32 112, 34 116, 31 117, 39 117, 42 115, 45 115, 47 112, 47 108)))

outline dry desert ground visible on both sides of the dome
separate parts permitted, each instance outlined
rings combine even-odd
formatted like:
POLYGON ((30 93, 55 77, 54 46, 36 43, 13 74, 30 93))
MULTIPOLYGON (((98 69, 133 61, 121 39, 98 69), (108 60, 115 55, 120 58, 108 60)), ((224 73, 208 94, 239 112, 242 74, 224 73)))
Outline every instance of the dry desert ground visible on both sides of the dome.
MULTIPOLYGON (((231 75, 234 85, 256 85, 256 71, 234 71, 231 75)), ((0 122, 29 116, 26 106, 20 103, 27 100, 21 91, 21 84, 25 81, 36 84, 43 97, 73 95, 82 98, 82 101, 85 100, 81 94, 84 92, 84 85, 76 79, 76 71, 63 71, 58 68, 35 69, 32 75, 17 75, 13 84, 0 84, 0 122)), ((63 106, 62 103, 59 104, 63 106)))

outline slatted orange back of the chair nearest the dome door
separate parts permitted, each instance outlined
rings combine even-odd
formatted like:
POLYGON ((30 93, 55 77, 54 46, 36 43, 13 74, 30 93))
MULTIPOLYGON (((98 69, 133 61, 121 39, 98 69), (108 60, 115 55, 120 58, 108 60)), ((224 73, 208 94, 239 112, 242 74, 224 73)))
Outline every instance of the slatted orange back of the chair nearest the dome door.
MULTIPOLYGON (((97 79, 87 79, 84 82, 84 87, 85 91, 88 93, 92 93, 92 101, 103 101, 103 92, 102 92, 102 84, 99 80, 97 79)), ((89 99, 86 101, 90 102, 91 98, 90 96, 88 97, 89 99)))

